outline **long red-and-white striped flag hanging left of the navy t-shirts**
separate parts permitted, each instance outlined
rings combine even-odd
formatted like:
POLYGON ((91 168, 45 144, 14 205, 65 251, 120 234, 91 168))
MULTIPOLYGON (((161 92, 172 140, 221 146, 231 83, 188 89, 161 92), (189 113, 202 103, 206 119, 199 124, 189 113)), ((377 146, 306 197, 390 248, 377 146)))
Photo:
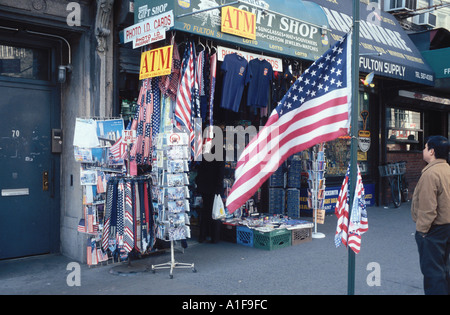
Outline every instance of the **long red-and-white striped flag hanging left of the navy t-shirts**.
MULTIPOLYGON (((194 141, 194 129, 192 127, 192 98, 194 88, 194 50, 192 42, 186 47, 182 62, 181 82, 178 87, 177 101, 175 105, 175 120, 178 127, 185 127, 189 132, 191 145, 194 141)), ((193 153, 193 147, 191 148, 193 153)), ((192 154, 193 156, 193 154, 192 154)))

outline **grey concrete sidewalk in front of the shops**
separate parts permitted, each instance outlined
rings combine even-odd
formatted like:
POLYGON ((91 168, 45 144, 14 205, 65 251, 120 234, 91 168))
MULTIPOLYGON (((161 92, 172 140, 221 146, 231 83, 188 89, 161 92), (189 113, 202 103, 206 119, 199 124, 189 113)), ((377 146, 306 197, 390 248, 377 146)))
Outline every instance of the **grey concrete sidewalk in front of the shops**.
MULTIPOLYGON (((410 204, 370 207, 368 218, 369 231, 356 255, 355 294, 423 294, 410 204), (379 283, 374 275, 380 276, 379 283)), ((344 295, 348 253, 343 246, 335 247, 335 230, 336 217, 328 215, 325 224, 318 225, 325 238, 273 251, 190 240, 184 253, 175 252, 175 259, 195 263, 197 272, 176 269, 173 279, 168 270, 150 271, 152 264, 169 261, 170 251, 132 261, 129 272, 126 263, 91 268, 81 264, 79 286, 67 283, 73 271, 66 270, 72 262, 67 257, 5 260, 0 261, 0 294, 344 295)))

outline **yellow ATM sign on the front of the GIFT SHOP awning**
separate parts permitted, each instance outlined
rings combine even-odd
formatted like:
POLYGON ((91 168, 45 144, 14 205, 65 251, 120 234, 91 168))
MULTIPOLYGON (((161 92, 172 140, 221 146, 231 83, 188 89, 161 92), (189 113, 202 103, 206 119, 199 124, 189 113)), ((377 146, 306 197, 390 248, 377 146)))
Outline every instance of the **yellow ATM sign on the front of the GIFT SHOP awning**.
POLYGON ((256 39, 256 14, 227 6, 222 8, 223 33, 256 39))

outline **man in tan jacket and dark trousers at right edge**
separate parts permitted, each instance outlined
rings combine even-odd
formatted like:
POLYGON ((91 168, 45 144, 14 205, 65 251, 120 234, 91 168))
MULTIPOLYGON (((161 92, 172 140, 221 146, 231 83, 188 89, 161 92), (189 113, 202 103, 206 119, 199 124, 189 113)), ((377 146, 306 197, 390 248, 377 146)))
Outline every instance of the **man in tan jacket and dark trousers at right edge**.
POLYGON ((425 294, 450 294, 450 166, 449 141, 429 137, 423 150, 428 165, 414 190, 411 214, 425 294))

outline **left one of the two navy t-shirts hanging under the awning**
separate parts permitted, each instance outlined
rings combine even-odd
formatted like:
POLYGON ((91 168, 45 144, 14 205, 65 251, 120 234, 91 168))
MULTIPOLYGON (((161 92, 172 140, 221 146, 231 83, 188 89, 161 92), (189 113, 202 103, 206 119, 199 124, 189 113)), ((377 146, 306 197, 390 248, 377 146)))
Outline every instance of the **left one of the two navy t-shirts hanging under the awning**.
POLYGON ((223 78, 221 107, 239 111, 239 105, 248 80, 248 62, 236 53, 225 56, 222 67, 223 78))

